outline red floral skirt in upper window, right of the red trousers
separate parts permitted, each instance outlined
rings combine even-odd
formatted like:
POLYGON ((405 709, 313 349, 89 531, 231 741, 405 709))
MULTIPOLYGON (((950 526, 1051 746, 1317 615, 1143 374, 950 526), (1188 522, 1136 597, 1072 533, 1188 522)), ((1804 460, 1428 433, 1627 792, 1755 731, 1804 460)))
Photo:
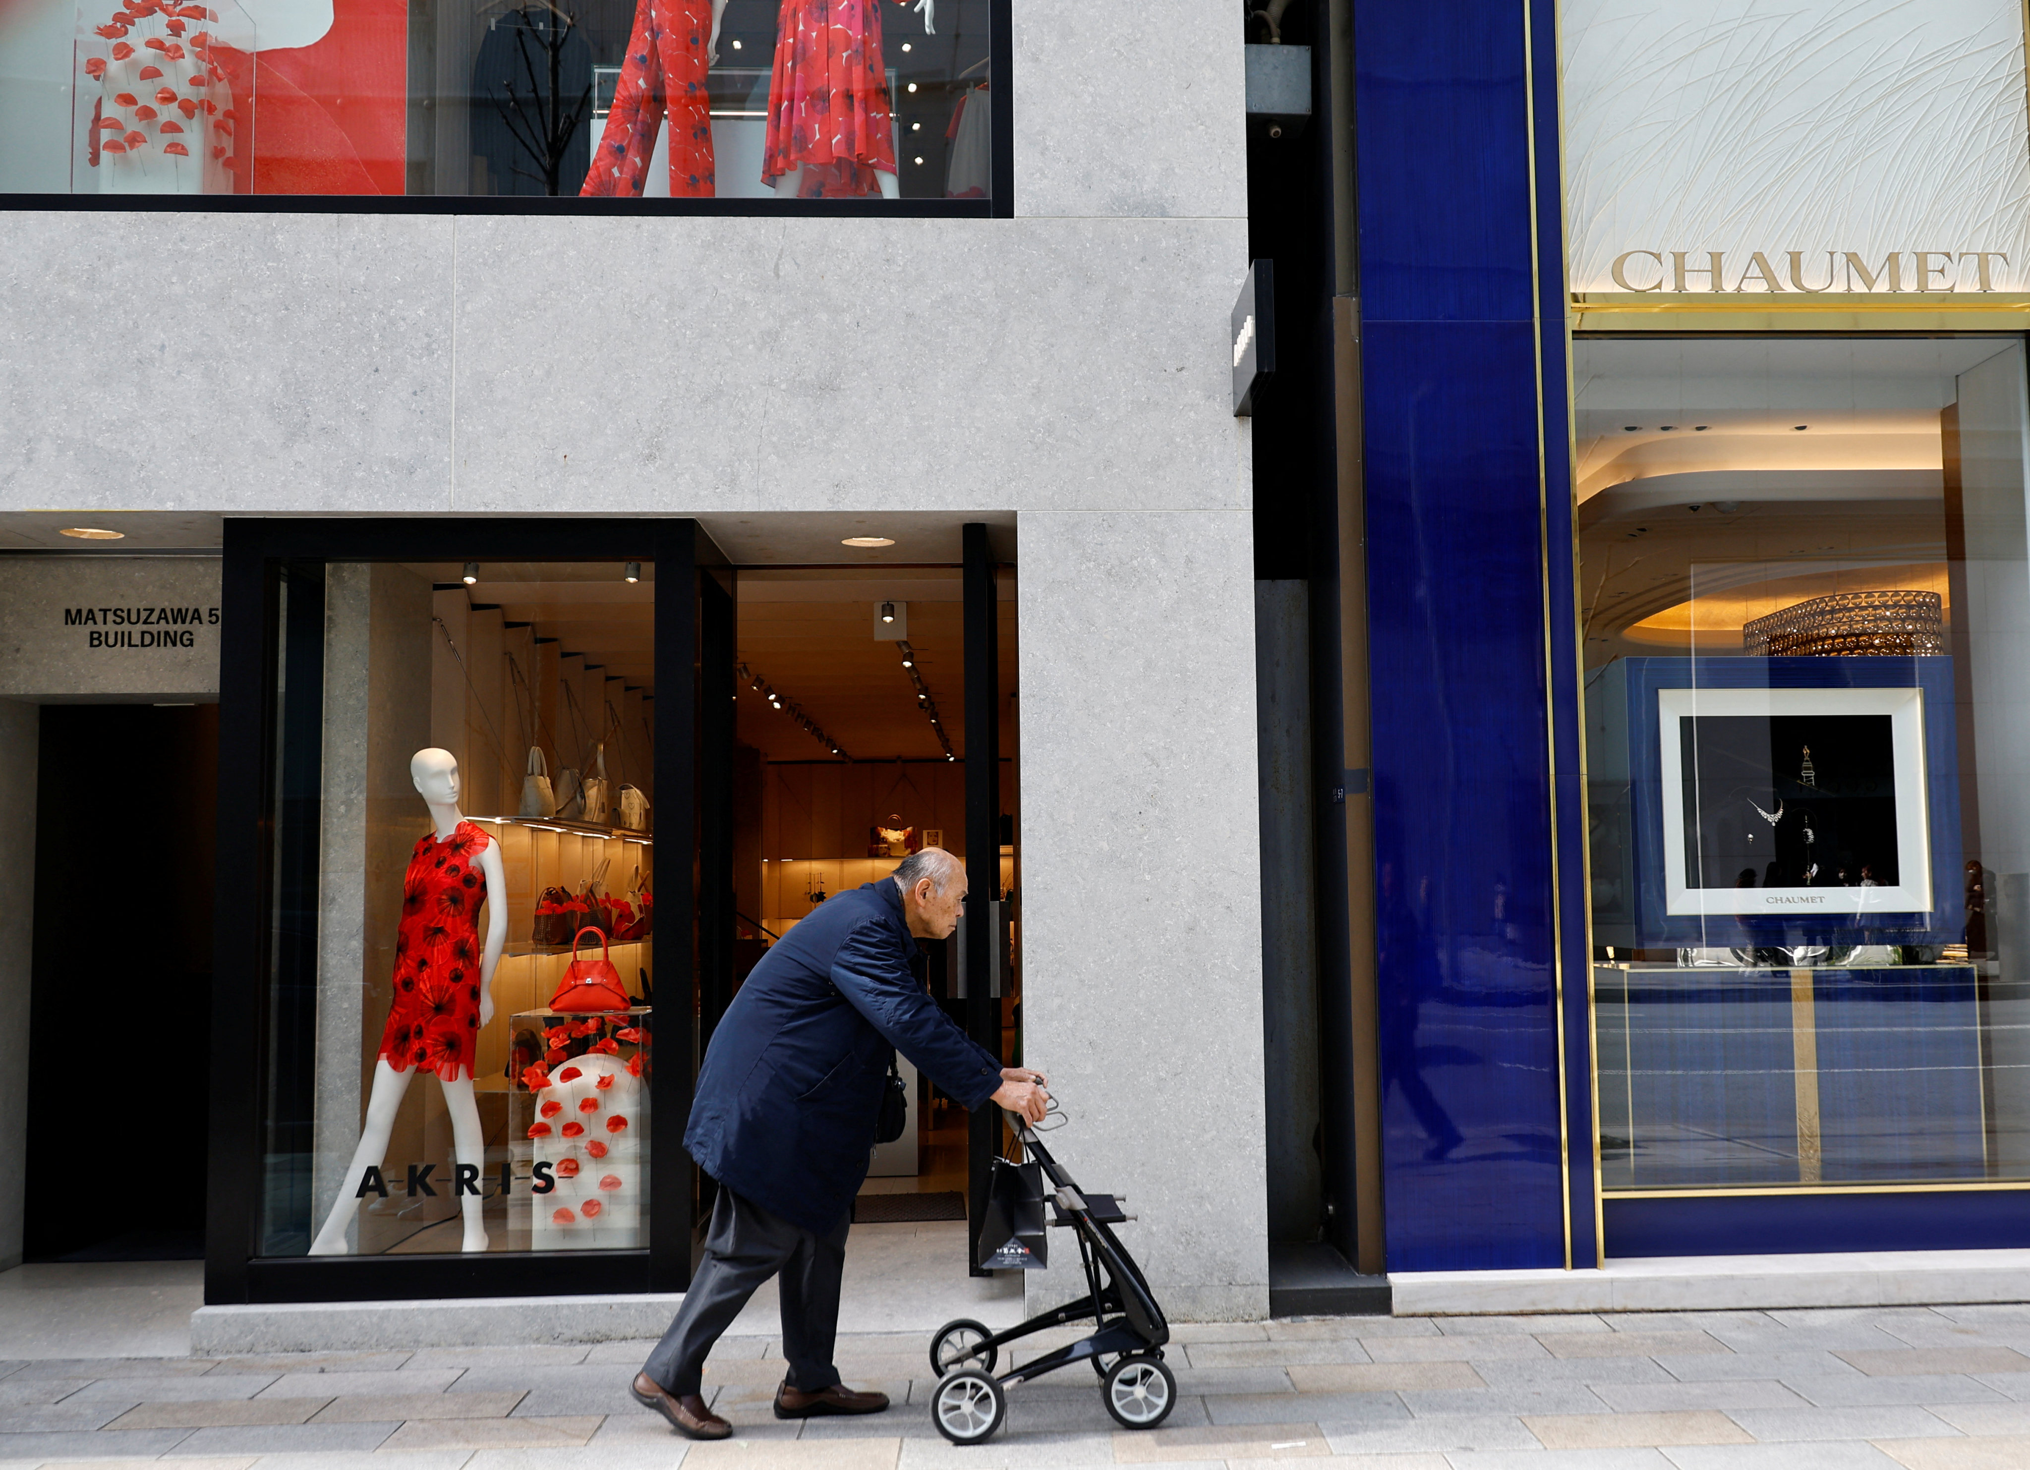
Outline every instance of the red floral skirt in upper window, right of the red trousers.
POLYGON ((761 183, 804 169, 804 199, 879 193, 895 173, 881 0, 782 0, 761 183))

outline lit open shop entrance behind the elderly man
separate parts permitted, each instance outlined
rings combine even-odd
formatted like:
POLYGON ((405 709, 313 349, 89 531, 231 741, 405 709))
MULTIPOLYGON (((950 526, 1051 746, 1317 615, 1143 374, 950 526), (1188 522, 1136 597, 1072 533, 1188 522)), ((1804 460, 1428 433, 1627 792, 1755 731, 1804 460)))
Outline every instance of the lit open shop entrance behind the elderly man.
MULTIPOLYGON (((735 940, 721 995, 731 1001, 828 897, 944 847, 968 869, 966 922, 950 942, 924 944, 922 979, 1017 1064, 1013 569, 985 556, 974 569, 749 566, 733 577, 733 603, 735 940)), ((706 1007, 706 1033, 719 1011, 706 1007)), ((909 1123, 877 1149, 855 1224, 950 1222, 956 1251, 970 1243, 964 1222, 978 1216, 1001 1121, 966 1115, 905 1060, 901 1070, 909 1123)))

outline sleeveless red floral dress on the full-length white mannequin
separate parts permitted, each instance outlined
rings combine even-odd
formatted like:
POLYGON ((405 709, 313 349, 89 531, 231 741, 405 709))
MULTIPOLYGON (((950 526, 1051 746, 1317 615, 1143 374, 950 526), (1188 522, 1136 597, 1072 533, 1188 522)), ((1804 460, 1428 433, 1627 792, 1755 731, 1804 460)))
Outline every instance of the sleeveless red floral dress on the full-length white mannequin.
POLYGON ((394 940, 394 1009, 382 1060, 396 1072, 422 1066, 445 1082, 473 1074, 479 1048, 479 906, 487 877, 479 855, 493 841, 459 822, 438 841, 416 843, 402 881, 402 928, 394 940))

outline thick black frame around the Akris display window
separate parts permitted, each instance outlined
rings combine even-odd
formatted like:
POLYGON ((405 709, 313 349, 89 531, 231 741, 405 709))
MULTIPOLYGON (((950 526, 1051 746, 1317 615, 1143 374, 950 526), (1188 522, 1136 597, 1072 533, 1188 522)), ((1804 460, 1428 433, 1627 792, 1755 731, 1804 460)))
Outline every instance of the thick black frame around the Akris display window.
MULTIPOLYGON (((725 863, 700 861, 729 832, 708 755, 723 733, 700 694, 731 678, 727 560, 686 518, 227 518, 219 648, 219 849, 207 1117, 205 1304, 371 1301, 398 1297, 589 1295, 682 1291, 690 1283, 696 1170, 682 1147, 696 1066, 694 1015, 704 973, 725 962, 717 934, 725 863), (262 1257, 266 1078, 276 891, 278 652, 284 569, 335 560, 544 562, 648 560, 656 566, 656 828, 688 857, 658 871, 662 1013, 650 1139, 650 1245, 635 1251, 262 1257), (725 623, 725 629, 717 627, 725 623), (692 942, 670 920, 690 916, 692 942)), ((300 629, 298 629, 300 631, 300 629)), ((298 1017, 300 1021, 300 1017, 298 1017)))

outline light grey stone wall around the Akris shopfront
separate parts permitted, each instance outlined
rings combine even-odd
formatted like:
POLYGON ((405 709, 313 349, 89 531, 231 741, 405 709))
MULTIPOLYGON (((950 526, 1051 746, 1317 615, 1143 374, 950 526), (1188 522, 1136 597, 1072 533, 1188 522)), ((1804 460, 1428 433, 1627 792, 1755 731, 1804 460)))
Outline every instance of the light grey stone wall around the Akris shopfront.
POLYGON ((1029 1054, 1165 1304, 1261 1314, 1240 47, 1017 6, 1015 219, 4 215, 0 512, 1013 512, 1029 1054))

